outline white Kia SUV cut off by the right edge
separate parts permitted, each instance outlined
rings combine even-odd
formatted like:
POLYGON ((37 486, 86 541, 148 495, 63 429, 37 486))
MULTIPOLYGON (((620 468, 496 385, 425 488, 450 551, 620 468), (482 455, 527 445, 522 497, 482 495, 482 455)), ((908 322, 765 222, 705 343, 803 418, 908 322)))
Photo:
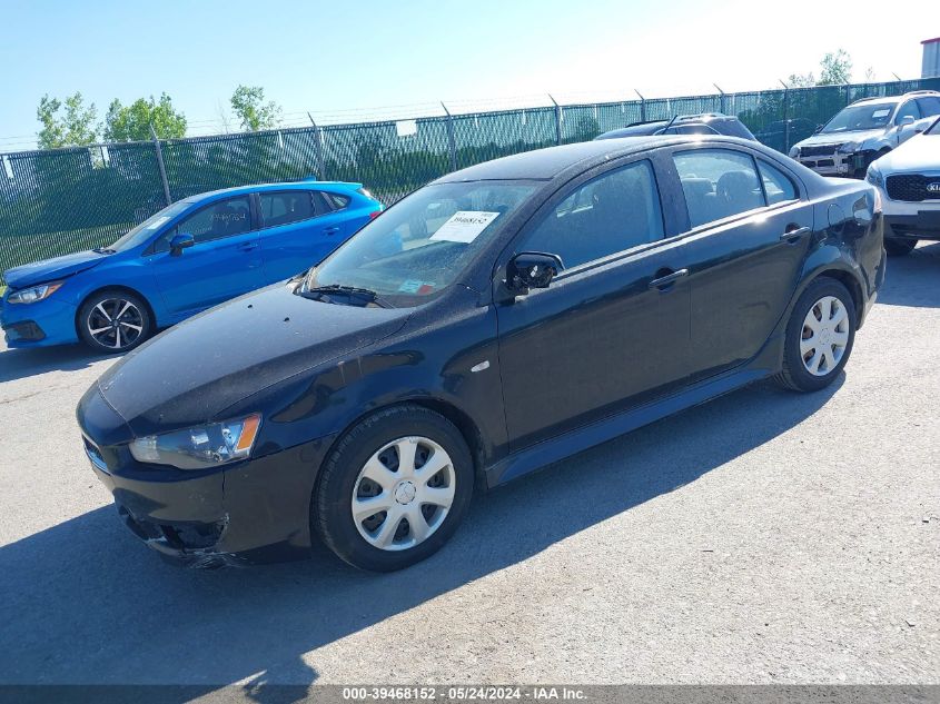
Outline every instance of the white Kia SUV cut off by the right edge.
POLYGON ((906 255, 919 239, 940 240, 940 119, 868 168, 884 209, 884 249, 906 255))

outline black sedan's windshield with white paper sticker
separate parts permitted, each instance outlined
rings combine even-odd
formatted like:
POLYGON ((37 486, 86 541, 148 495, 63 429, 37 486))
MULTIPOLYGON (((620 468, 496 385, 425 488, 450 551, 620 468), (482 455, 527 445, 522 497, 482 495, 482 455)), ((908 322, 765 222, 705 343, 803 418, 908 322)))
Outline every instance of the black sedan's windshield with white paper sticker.
POLYGON ((311 269, 303 291, 345 286, 375 291, 390 305, 424 303, 457 280, 534 190, 521 181, 426 186, 311 269))

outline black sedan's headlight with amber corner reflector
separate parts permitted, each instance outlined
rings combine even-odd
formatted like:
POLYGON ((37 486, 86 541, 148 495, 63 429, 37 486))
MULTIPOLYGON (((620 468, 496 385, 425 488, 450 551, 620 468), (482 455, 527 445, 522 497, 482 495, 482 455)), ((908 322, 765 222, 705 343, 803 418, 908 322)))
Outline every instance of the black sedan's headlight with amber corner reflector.
POLYGON ((207 469, 248 457, 260 426, 261 416, 253 414, 176 433, 149 435, 133 440, 130 454, 137 462, 179 469, 207 469))

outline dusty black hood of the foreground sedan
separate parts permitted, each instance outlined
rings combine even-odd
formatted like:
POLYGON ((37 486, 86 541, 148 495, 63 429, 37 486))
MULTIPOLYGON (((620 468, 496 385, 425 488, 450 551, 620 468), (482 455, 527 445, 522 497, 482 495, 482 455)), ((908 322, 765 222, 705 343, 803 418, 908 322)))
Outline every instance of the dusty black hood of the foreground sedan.
POLYGON ((222 419, 247 396, 392 335, 409 314, 310 300, 279 284, 170 328, 97 384, 133 435, 169 432, 222 419))

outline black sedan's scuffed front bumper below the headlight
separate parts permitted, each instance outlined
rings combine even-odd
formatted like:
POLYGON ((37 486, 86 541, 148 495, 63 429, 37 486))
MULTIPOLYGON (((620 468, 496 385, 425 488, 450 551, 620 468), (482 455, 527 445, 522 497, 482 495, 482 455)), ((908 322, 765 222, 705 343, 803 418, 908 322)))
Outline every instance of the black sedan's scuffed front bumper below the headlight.
POLYGON ((185 566, 279 562, 310 547, 314 483, 333 436, 206 470, 138 463, 132 435, 95 387, 79 404, 85 452, 125 525, 185 566))

